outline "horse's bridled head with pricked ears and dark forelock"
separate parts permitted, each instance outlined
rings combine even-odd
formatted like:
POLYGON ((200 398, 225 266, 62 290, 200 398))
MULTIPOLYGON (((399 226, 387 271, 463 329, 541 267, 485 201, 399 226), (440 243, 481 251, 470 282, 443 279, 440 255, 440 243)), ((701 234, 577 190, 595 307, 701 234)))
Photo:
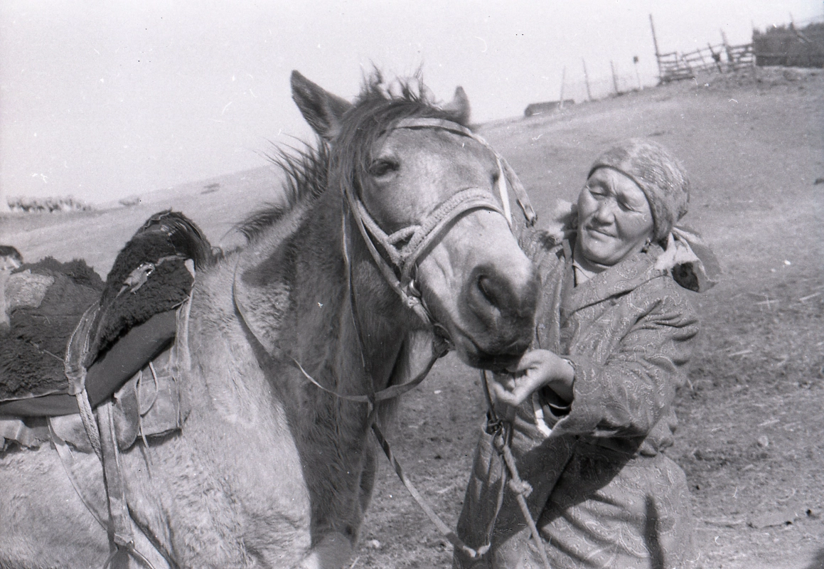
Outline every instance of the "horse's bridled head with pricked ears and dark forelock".
POLYGON ((375 82, 354 105, 297 72, 292 87, 331 145, 349 239, 363 237, 400 299, 431 317, 461 359, 492 369, 517 360, 532 339, 538 280, 508 220, 508 168, 466 128, 463 90, 438 108, 375 82))

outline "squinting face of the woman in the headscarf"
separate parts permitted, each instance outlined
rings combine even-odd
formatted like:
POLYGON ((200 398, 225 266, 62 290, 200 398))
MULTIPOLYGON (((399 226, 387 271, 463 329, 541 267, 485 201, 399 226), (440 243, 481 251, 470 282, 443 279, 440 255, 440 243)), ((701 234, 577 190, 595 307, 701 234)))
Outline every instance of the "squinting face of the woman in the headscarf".
POLYGON ((578 247, 589 261, 611 266, 653 236, 644 192, 624 174, 598 168, 578 195, 578 247))

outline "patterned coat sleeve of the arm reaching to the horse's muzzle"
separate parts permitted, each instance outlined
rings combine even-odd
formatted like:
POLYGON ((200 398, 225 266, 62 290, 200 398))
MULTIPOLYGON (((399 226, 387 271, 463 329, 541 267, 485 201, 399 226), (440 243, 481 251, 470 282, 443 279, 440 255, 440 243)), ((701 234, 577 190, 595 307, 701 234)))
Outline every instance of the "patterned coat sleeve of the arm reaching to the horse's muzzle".
POLYGON ((674 288, 640 305, 628 302, 638 317, 603 364, 589 354, 565 356, 575 368, 574 399, 554 435, 637 438, 658 423, 685 382, 699 329, 690 302, 674 288))

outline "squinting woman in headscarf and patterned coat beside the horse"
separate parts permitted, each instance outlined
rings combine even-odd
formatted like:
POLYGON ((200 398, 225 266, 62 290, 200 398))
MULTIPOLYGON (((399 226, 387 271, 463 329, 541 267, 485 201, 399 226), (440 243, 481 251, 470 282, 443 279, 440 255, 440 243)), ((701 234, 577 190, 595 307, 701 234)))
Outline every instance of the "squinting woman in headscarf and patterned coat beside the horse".
MULTIPOLYGON (((490 391, 513 421, 511 448, 553 569, 670 569, 698 557, 686 477, 662 454, 698 333, 685 287, 712 284, 691 236, 674 228, 688 200, 680 162, 629 140, 592 165, 569 238, 531 242, 543 285, 533 350, 490 391)), ((492 440, 481 436, 458 522, 468 545, 491 551, 480 561, 456 553, 455 567, 543 567, 516 495, 501 491, 507 473, 492 440)))

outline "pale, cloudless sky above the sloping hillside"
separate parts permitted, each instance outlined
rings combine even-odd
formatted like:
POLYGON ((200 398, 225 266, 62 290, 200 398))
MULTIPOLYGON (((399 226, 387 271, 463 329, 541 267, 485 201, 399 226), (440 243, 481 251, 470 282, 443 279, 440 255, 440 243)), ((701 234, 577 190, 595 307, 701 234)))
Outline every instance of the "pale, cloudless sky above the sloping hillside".
POLYGON ((289 74, 344 98, 373 67, 466 90, 475 123, 656 78, 662 52, 747 44, 821 0, 2 0, 0 194, 119 200, 311 141, 289 74), (639 58, 633 63, 634 56, 639 58))

